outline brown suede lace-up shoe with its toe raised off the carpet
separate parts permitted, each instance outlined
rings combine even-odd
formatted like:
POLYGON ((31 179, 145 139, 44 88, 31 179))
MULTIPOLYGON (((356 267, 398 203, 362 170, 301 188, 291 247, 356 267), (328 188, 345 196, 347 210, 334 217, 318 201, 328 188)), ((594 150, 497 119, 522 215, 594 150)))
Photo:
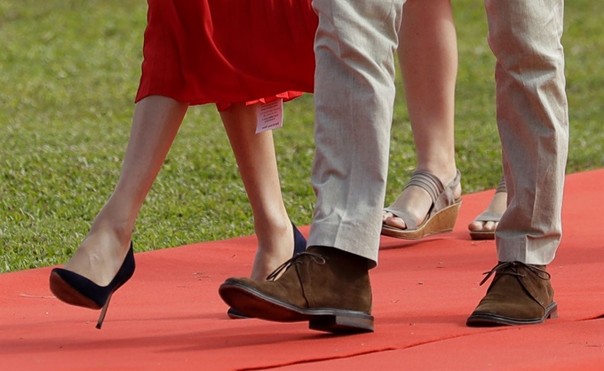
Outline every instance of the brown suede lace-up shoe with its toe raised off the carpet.
POLYGON ((309 328, 331 333, 373 331, 367 259, 339 249, 310 247, 266 281, 226 280, 219 295, 236 311, 261 320, 307 320, 309 328), (287 270, 271 280, 282 269, 287 270))

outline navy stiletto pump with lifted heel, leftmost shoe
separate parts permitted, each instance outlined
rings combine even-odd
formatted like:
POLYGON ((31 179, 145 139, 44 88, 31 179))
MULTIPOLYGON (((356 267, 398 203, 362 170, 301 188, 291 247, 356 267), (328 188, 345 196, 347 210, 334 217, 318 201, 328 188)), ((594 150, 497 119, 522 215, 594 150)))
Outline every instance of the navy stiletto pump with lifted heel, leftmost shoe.
POLYGON ((123 259, 122 266, 107 286, 99 286, 75 272, 55 268, 51 272, 51 291, 61 302, 94 310, 100 309, 99 321, 96 326, 100 329, 105 320, 111 296, 131 279, 135 267, 134 250, 132 242, 130 242, 130 249, 123 259))

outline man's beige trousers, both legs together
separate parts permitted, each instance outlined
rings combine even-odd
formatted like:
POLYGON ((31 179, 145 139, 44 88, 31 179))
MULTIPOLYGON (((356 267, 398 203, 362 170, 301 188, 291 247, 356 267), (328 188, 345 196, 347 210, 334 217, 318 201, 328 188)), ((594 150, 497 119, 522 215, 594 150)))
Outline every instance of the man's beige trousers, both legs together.
MULTIPOLYGON (((404 0, 314 0, 317 195, 309 246, 377 264, 404 0)), ((568 109, 562 0, 486 0, 510 205, 500 261, 548 264, 560 243, 568 109)), ((401 42, 404 43, 404 40, 401 42)))

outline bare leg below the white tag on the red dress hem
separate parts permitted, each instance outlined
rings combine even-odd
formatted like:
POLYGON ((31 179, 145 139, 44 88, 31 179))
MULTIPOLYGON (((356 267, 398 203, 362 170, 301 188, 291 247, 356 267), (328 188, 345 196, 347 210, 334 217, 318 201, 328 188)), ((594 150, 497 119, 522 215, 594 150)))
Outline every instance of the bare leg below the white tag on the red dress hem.
POLYGON ((256 134, 256 107, 235 104, 220 113, 243 186, 248 193, 258 236, 251 278, 265 280, 292 256, 293 231, 283 204, 274 154, 273 132, 256 134))

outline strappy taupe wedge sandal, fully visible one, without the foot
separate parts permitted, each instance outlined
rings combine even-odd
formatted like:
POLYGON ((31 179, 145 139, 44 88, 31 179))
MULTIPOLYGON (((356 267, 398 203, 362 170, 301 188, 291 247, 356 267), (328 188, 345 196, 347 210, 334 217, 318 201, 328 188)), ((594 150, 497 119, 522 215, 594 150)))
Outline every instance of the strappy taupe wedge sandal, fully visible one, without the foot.
POLYGON ((408 210, 397 207, 398 200, 394 201, 384 210, 391 212, 394 217, 400 217, 407 228, 401 229, 383 224, 382 234, 405 240, 418 240, 431 234, 451 232, 455 226, 459 206, 461 206, 461 197, 456 199, 454 196, 460 181, 459 170, 457 170, 457 176, 447 186, 443 186, 441 179, 436 178, 433 174, 421 170, 414 171, 405 188, 418 186, 430 194, 432 207, 428 211, 428 215, 421 225, 417 225, 416 218, 408 210))

